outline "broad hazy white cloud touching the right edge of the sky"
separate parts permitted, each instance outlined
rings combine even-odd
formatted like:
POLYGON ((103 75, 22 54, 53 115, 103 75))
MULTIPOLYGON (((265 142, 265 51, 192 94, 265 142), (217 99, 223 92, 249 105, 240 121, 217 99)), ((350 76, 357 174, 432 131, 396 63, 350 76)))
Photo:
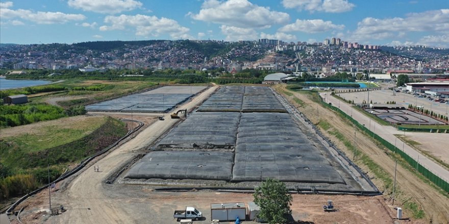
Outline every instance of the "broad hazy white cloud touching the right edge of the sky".
POLYGON ((394 17, 378 19, 367 17, 358 22, 357 30, 351 39, 386 39, 406 36, 407 32, 442 32, 449 31, 449 9, 409 13, 405 18, 394 17))

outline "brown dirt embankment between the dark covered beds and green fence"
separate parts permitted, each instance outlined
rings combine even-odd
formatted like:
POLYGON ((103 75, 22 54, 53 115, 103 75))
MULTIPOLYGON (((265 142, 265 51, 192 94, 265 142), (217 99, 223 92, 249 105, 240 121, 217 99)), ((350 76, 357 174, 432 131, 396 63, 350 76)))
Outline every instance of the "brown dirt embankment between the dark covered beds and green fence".
MULTIPOLYGON (((327 130, 321 131, 327 135, 335 145, 341 149, 350 158, 353 157, 353 149, 349 149, 345 144, 336 137, 335 133, 340 133, 348 141, 354 142, 354 127, 348 122, 340 118, 334 111, 322 107, 319 103, 310 98, 310 95, 293 93, 292 96, 287 96, 283 91, 288 91, 285 85, 277 86, 278 92, 284 97, 289 99, 290 103, 295 105, 298 110, 306 115, 314 124, 320 122, 329 123, 327 130), (299 104, 293 97, 300 99, 304 103, 299 104)), ((369 137, 365 136, 362 132, 357 131, 357 150, 366 154, 373 162, 380 165, 389 176, 388 178, 394 178, 394 160, 388 154, 387 149, 379 147, 380 144, 373 142, 369 137)), ((386 184, 382 181, 383 177, 376 177, 372 171, 368 169, 367 165, 364 165, 360 160, 360 157, 355 159, 355 163, 358 164, 365 172, 368 173, 373 183, 381 191, 384 192, 384 197, 388 200, 388 204, 391 205, 391 184, 386 184)), ((429 184, 423 182, 411 171, 406 170, 404 167, 398 164, 396 174, 396 197, 394 206, 403 207, 405 209, 405 216, 412 218, 414 214, 417 214, 416 210, 422 209, 425 212, 425 218, 414 220, 416 223, 448 223, 449 222, 449 199, 444 195, 441 195, 429 184), (397 190, 398 189, 398 190, 397 190), (407 208, 410 202, 414 202, 418 205, 418 208, 407 208), (405 206, 406 205, 406 206, 405 206), (405 206, 405 207, 404 207, 405 206), (415 211, 413 211, 415 210, 415 211)), ((392 206, 389 206, 392 209, 392 206)))

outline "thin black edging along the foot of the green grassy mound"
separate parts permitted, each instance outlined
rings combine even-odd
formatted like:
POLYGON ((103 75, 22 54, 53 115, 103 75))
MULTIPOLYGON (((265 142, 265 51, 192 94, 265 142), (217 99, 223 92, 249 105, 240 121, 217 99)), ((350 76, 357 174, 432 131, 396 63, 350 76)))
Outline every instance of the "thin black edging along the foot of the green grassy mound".
MULTIPOLYGON (((122 121, 134 121, 134 120, 128 120, 128 119, 123 119, 122 121)), ((135 122, 135 121, 134 121, 135 122)), ((115 143, 113 143, 112 145, 108 146, 107 148, 103 149, 102 151, 99 151, 97 153, 95 153, 92 156, 89 156, 85 159, 83 159, 80 164, 78 164, 76 167, 74 167, 73 169, 71 169, 70 171, 65 172, 64 174, 62 174, 58 179, 54 180, 53 182, 46 184, 30 193, 28 193, 27 195, 24 195, 22 198, 20 198, 19 200, 17 200, 14 204, 12 204, 7 210, 6 210, 6 214, 7 215, 11 215, 12 214, 12 210, 14 210, 14 208, 19 205, 21 202, 25 201, 27 198, 29 198, 31 195, 34 195, 36 193, 39 193, 41 190, 46 189, 47 187, 49 187, 51 184, 53 183, 57 183, 61 180, 66 179, 67 177, 70 177, 71 175, 77 173, 78 171, 80 171, 81 169, 84 168, 84 166, 86 166, 87 163, 89 163, 92 159, 94 159, 95 157, 102 155, 104 153, 106 153, 107 151, 109 151, 110 149, 112 149, 113 147, 117 146, 121 141, 123 141, 123 139, 127 138, 128 136, 130 136, 132 133, 136 132, 137 130, 139 130, 142 126, 143 123, 138 121, 139 125, 134 128, 133 130, 128 131, 128 133, 126 135, 124 135, 123 137, 121 137, 120 139, 118 139, 115 143)))

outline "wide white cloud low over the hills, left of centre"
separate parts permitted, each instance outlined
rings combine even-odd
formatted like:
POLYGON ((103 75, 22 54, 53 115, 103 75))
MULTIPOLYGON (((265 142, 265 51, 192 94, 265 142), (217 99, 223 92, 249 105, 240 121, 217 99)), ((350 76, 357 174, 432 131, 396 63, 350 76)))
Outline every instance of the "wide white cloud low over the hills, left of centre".
POLYGON ((162 34, 168 34, 173 39, 191 39, 188 35, 189 29, 181 26, 176 20, 168 18, 158 18, 156 16, 146 15, 120 15, 106 16, 105 23, 99 28, 100 31, 135 29, 137 36, 158 37, 162 34))

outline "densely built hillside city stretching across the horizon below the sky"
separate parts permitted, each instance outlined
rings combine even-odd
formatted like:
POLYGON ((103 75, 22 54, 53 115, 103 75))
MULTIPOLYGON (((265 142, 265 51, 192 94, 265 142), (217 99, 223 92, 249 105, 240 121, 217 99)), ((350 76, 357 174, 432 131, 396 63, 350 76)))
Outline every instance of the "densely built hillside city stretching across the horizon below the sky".
POLYGON ((307 71, 326 76, 338 71, 445 73, 449 49, 427 46, 378 46, 340 39, 322 42, 216 40, 97 41, 74 44, 0 46, 4 69, 215 69, 245 68, 307 71))

